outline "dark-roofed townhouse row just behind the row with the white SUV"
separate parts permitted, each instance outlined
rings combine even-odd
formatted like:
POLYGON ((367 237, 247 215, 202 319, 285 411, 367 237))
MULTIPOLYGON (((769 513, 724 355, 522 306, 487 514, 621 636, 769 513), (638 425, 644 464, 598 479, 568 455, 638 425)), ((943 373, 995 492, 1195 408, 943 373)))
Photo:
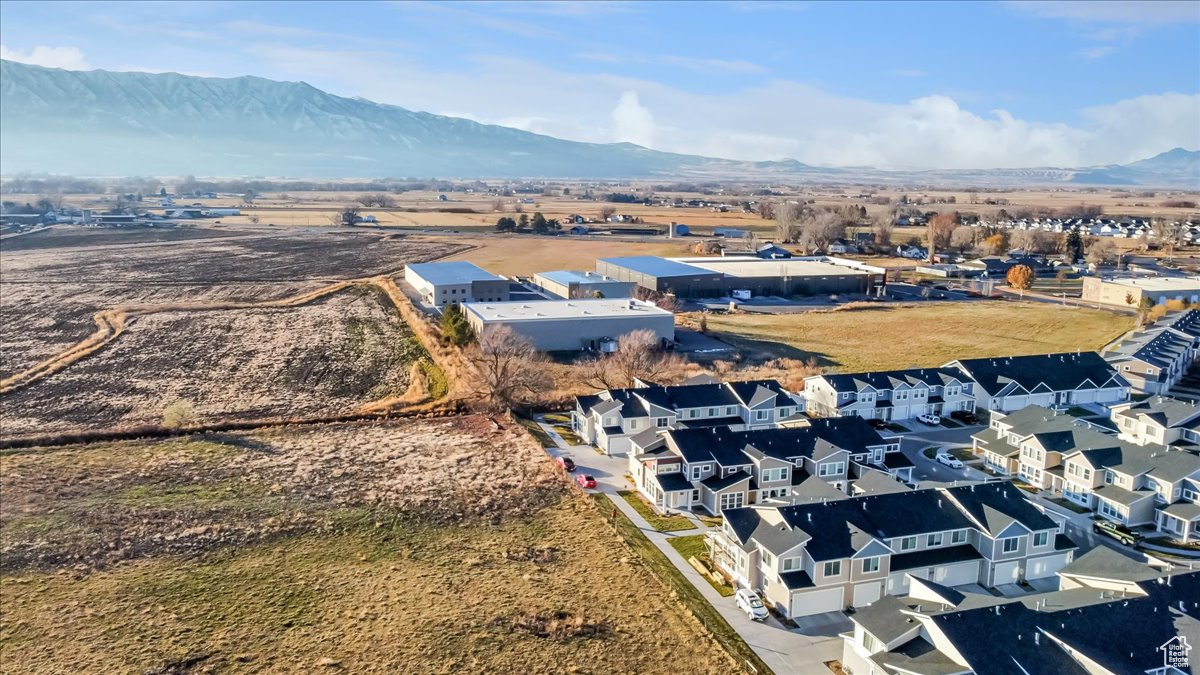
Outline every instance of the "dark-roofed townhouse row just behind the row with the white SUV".
POLYGON ((911 479, 912 472, 900 440, 883 438, 860 418, 784 429, 646 431, 631 446, 634 484, 664 512, 703 508, 718 515, 756 503, 840 498, 870 471, 889 480, 911 479))

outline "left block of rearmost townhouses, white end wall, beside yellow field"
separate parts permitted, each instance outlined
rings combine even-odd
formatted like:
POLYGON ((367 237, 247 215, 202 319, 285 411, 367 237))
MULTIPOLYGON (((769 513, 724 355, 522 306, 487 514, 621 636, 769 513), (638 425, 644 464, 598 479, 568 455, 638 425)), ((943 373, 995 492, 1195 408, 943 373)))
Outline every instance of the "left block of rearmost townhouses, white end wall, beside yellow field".
POLYGON ((973 411, 973 387, 950 368, 818 375, 804 380, 804 400, 814 417, 899 420, 973 411))

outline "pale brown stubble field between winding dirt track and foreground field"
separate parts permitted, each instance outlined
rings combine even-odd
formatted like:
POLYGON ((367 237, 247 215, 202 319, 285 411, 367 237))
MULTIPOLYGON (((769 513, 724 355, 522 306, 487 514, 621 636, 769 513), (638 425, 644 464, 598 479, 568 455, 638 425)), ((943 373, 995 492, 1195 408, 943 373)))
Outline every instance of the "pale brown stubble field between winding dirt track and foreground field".
POLYGON ((74 365, 6 394, 7 436, 198 420, 350 413, 401 395, 427 358, 389 300, 353 287, 298 307, 161 312, 74 365))

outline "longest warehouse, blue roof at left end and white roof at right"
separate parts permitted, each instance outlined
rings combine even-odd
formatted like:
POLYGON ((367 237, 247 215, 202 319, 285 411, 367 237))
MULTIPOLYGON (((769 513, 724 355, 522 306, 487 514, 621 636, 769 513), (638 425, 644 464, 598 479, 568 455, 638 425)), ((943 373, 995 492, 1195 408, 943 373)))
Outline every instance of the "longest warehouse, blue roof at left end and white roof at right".
POLYGON ((739 289, 755 295, 868 294, 876 282, 874 271, 828 258, 631 256, 596 261, 596 271, 683 298, 721 297, 739 289))

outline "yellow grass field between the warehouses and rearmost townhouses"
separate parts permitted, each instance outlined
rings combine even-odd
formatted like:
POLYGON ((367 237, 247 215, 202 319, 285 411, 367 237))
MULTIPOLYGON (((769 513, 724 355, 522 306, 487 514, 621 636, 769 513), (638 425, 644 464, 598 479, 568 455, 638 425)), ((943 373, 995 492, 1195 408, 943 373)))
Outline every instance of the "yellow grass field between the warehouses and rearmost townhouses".
MULTIPOLYGON (((685 319, 696 323, 698 316, 685 319)), ((840 372, 1098 350, 1133 328, 1129 316, 1007 300, 881 304, 792 315, 713 313, 707 322, 713 336, 738 347, 748 359, 816 359, 840 372)))

